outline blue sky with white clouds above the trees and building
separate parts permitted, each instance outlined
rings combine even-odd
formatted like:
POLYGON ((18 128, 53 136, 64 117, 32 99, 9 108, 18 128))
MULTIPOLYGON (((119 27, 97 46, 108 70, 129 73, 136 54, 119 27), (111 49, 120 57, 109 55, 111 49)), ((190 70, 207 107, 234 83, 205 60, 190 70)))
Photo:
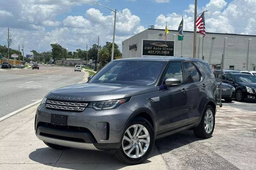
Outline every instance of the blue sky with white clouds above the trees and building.
MULTIPOLYGON (((86 50, 97 43, 112 42, 114 13, 94 5, 116 9, 116 40, 122 41, 148 26, 177 30, 183 16, 184 31, 193 31, 194 0, 4 0, 0 2, 0 44, 11 48, 24 44, 31 50, 49 51, 58 43, 68 51, 86 50)), ((205 13, 207 32, 256 35, 256 0, 198 0, 205 13)))

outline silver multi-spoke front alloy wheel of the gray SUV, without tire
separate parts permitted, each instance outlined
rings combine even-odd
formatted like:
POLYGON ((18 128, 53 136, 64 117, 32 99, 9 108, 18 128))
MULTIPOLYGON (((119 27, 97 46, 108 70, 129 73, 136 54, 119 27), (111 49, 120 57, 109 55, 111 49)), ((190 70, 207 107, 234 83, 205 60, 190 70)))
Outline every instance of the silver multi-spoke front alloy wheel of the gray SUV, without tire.
POLYGON ((147 128, 140 124, 131 125, 125 130, 122 149, 130 158, 143 156, 149 147, 150 135, 147 128))

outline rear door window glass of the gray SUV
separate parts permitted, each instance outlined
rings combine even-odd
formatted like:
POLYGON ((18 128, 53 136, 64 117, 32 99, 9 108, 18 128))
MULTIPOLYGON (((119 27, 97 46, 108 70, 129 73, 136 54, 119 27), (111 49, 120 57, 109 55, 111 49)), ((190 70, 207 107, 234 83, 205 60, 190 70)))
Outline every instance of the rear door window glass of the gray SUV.
POLYGON ((199 82, 200 76, 192 62, 184 62, 187 83, 199 82))

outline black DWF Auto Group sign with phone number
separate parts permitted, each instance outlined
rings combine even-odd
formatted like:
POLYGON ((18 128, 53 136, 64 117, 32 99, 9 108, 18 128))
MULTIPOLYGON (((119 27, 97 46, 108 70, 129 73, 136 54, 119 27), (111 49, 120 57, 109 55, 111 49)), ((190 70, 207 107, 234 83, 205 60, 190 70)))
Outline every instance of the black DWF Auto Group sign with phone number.
POLYGON ((142 40, 143 56, 174 56, 174 41, 142 40))

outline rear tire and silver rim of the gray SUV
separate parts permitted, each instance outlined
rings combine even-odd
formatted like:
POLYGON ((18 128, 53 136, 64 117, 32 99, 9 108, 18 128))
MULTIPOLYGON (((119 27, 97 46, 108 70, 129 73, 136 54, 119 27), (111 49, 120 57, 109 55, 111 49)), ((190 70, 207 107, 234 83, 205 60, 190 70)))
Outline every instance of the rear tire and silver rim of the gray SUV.
POLYGON ((215 127, 215 111, 213 110, 212 106, 207 105, 207 107, 204 110, 204 114, 202 116, 202 119, 201 119, 199 125, 197 127, 195 127, 193 131, 195 133, 195 136, 197 136, 199 138, 207 139, 207 138, 212 137, 214 127, 215 127), (211 111, 212 116, 210 116, 209 111, 211 111), (208 118, 207 118, 207 114, 209 115, 208 118), (205 119, 207 122, 205 122, 205 119), (212 121, 208 122, 210 119, 212 121), (209 130, 206 127, 207 123, 208 123, 209 130), (212 129, 210 130, 211 127, 212 127, 212 129))

